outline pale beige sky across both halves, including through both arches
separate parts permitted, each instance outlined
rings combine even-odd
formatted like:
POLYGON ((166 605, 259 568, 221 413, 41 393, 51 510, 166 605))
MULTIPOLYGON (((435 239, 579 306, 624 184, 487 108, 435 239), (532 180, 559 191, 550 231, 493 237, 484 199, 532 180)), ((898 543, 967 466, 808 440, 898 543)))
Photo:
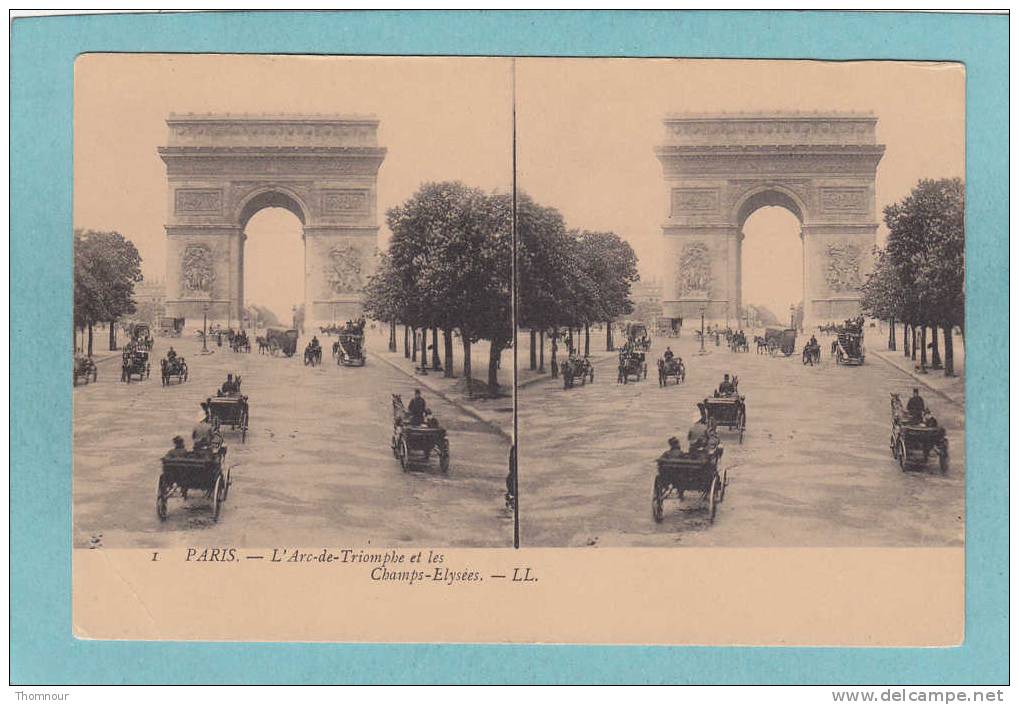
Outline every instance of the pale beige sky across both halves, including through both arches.
MULTIPOLYGON (((74 225, 119 230, 141 251, 146 277, 163 279, 166 176, 156 150, 169 113, 374 114, 388 149, 384 243, 386 209, 423 181, 508 191, 511 76, 506 59, 86 55, 75 64, 74 225)), ((618 232, 642 276, 656 277, 667 198, 653 150, 666 113, 873 111, 887 145, 880 219, 919 178, 965 173, 964 95, 959 64, 520 59, 519 185, 570 227, 618 232)), ((802 295, 795 218, 762 209, 745 231, 744 301, 781 316, 802 295)), ((246 297, 285 316, 302 299, 300 223, 266 210, 248 235, 246 297), (292 247, 281 251, 279 239, 292 247)))

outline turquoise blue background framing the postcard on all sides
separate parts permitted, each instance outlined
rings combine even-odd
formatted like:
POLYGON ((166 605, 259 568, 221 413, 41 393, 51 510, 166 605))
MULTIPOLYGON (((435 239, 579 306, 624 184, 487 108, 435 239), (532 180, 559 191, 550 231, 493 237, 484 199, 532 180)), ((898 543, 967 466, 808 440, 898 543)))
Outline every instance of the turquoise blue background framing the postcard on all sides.
MULTIPOLYGON (((1008 681, 1006 17, 863 12, 182 13, 18 19, 11 37, 13 683, 1008 681), (966 382, 969 389, 979 390, 967 394, 965 644, 865 650, 73 640, 70 390, 65 375, 58 374, 67 366, 71 328, 72 66, 79 53, 110 51, 965 62, 966 382)), ((923 599, 917 595, 918 601, 923 599)))

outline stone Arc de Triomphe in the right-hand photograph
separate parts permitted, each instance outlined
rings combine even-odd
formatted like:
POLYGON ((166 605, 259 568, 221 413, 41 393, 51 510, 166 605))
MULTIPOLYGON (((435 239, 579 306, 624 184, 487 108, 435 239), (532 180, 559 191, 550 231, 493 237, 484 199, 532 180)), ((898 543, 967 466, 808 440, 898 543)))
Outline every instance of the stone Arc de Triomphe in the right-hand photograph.
POLYGON ((801 223, 805 324, 857 315, 877 231, 876 124, 859 113, 666 116, 655 150, 668 187, 663 314, 738 321, 743 225, 782 206, 801 223))

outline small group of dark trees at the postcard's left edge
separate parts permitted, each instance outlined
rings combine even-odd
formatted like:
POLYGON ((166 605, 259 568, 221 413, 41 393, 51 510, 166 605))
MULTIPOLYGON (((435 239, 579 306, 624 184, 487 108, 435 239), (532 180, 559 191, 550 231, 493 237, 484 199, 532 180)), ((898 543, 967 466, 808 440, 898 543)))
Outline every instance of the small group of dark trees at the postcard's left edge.
POLYGON ((119 232, 74 230, 74 330, 109 324, 110 349, 116 349, 116 322, 136 311, 135 284, 142 281, 142 256, 119 232))

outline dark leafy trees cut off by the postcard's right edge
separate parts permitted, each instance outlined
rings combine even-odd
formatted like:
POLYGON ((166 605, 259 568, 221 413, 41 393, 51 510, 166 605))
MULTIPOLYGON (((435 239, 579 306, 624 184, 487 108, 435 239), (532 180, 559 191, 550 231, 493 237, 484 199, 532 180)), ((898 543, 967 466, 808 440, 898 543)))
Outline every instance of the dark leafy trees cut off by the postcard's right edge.
POLYGON ((923 179, 903 201, 886 207, 884 248, 863 285, 863 311, 889 321, 889 349, 897 348, 896 322, 903 325, 903 355, 955 374, 952 331, 965 335, 965 185, 961 178, 923 179), (944 334, 942 362, 938 331, 944 334), (927 333, 930 333, 930 342, 927 333))

